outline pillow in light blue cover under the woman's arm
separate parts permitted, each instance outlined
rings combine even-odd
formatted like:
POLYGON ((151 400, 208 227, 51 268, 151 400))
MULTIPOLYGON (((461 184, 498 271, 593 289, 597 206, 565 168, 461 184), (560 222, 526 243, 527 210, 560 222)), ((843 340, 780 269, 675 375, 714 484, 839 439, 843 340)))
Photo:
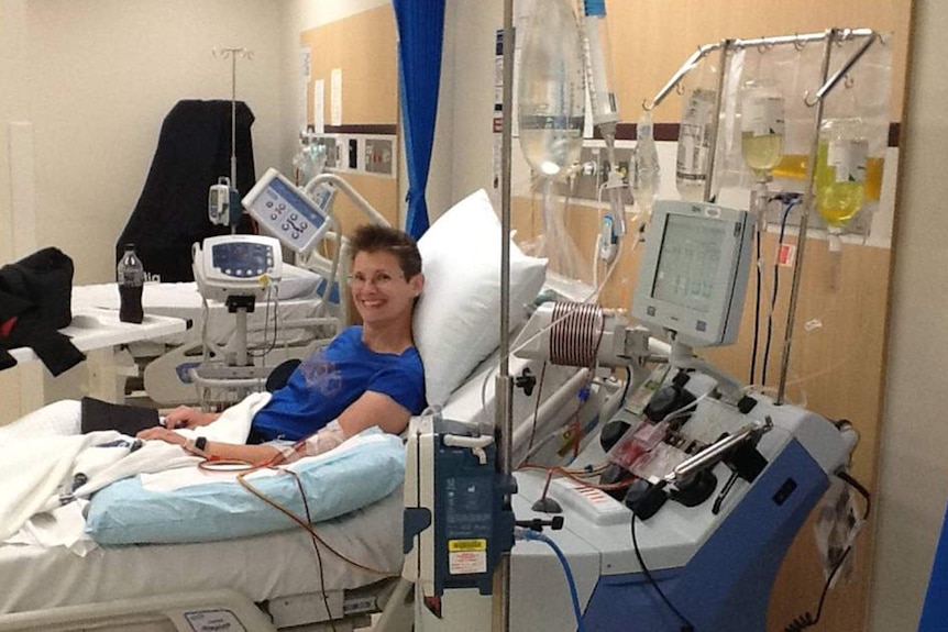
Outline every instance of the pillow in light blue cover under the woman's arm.
MULTIPOLYGON (((401 440, 368 429, 335 450, 287 466, 299 476, 313 522, 366 507, 405 479, 401 440)), ((249 479, 296 515, 306 508, 296 479, 286 474, 249 479)), ((92 496, 86 533, 99 544, 183 543, 230 540, 298 529, 288 515, 228 480, 154 491, 140 477, 123 478, 92 496)))

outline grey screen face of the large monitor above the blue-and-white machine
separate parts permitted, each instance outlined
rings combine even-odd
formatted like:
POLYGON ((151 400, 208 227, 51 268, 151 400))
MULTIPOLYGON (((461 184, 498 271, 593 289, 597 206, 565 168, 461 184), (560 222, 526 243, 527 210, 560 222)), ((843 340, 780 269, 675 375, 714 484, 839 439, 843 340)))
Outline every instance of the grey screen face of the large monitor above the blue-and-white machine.
POLYGON ((707 313, 725 243, 725 223, 669 214, 652 297, 707 313))

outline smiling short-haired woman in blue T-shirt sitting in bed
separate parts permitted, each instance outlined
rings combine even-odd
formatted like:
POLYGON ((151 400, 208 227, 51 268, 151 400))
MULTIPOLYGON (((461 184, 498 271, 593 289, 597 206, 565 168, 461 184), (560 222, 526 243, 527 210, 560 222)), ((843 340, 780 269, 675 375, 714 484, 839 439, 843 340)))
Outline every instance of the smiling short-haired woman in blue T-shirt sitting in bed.
POLYGON ((362 325, 348 328, 294 370, 254 414, 249 445, 186 440, 173 429, 207 425, 220 415, 189 407, 137 436, 262 464, 326 452, 373 425, 401 432, 425 408, 423 368, 411 337, 425 286, 421 255, 408 234, 379 225, 360 226, 351 246, 350 288, 362 325))

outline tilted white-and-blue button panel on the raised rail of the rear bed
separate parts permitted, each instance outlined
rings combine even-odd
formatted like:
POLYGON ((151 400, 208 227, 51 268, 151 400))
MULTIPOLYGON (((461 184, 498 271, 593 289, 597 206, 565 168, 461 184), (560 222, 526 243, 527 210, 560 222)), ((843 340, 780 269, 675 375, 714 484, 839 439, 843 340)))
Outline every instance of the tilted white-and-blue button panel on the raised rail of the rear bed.
POLYGON ((243 206, 268 232, 291 251, 306 254, 330 228, 329 208, 335 196, 330 185, 310 198, 274 168, 254 185, 243 206))

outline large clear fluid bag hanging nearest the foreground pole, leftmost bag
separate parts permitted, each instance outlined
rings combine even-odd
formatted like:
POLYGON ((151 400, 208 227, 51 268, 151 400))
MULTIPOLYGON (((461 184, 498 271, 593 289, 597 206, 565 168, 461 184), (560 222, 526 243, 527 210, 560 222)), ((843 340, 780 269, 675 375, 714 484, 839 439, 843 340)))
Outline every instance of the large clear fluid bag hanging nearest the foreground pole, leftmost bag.
POLYGON ((541 177, 565 176, 580 162, 585 115, 580 24, 569 0, 536 1, 520 54, 520 149, 541 177))

